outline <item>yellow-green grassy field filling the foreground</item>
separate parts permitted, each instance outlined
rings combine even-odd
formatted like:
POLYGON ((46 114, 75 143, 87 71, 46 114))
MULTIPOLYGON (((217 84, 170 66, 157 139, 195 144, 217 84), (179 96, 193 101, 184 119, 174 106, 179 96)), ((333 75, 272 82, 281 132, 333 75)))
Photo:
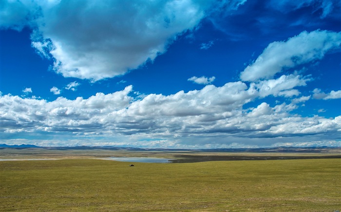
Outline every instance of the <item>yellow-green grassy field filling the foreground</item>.
POLYGON ((341 211, 341 159, 0 161, 0 211, 341 211))

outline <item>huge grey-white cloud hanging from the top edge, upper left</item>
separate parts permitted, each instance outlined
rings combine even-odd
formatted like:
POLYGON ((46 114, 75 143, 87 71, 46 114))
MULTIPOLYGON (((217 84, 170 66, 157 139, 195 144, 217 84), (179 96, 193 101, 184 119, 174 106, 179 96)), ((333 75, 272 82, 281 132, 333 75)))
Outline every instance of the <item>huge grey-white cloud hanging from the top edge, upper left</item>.
POLYGON ((33 28, 32 46, 64 77, 93 81, 125 74, 166 51, 213 9, 244 0, 1 1, 1 28, 33 28), (15 11, 15 12, 14 12, 15 11))

